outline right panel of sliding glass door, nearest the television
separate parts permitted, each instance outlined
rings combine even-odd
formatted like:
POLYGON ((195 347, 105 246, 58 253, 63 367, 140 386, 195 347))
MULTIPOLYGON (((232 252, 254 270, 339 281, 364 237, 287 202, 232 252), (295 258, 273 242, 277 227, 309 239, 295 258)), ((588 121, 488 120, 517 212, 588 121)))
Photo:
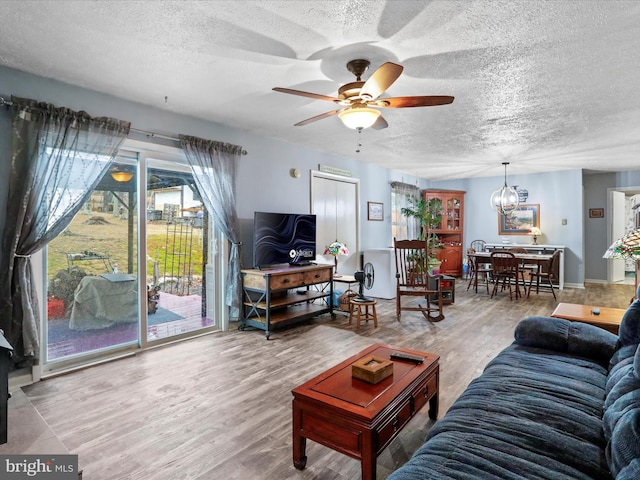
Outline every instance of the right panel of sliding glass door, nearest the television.
POLYGON ((207 314, 214 302, 207 295, 208 236, 209 215, 190 169, 148 159, 147 341, 215 326, 207 314))

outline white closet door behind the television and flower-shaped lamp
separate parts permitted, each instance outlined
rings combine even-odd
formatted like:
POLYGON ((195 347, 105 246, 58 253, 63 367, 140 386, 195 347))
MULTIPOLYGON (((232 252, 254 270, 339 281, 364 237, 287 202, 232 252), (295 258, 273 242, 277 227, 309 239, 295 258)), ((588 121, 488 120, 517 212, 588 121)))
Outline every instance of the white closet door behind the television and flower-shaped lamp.
POLYGON ((324 249, 336 240, 347 245, 348 255, 338 256, 338 273, 353 275, 359 269, 359 182, 312 172, 311 213, 316 215, 317 260, 333 263, 331 255, 323 255, 324 249))

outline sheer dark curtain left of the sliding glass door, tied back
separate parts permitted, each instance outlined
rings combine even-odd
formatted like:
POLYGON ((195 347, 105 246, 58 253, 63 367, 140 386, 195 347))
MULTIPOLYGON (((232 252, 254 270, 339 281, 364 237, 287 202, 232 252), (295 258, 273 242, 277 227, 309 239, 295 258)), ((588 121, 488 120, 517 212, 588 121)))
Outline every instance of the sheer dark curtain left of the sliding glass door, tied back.
POLYGON ((39 356, 39 308, 30 256, 58 236, 89 199, 130 124, 30 99, 13 97, 12 102, 0 328, 22 367, 36 364, 39 356))

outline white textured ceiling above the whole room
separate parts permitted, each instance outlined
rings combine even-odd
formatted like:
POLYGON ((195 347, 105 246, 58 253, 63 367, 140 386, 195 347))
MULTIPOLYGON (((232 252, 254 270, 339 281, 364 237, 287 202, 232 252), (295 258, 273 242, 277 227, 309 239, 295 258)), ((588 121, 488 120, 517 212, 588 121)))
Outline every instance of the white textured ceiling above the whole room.
MULTIPOLYGON (((429 179, 640 169, 637 1, 4 1, 0 64, 429 179), (347 61, 404 72, 358 134, 347 61), (165 101, 166 97, 166 101, 165 101)), ((0 93, 3 92, 0 85, 0 93)), ((220 139, 224 140, 224 139, 220 139)))

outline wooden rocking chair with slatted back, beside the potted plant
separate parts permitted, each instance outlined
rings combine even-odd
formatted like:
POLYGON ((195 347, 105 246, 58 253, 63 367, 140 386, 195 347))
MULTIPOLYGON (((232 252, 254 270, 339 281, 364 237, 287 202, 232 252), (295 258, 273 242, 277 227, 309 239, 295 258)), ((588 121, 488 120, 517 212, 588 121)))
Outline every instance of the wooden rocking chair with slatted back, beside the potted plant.
POLYGON ((396 316, 402 311, 417 311, 432 321, 444 319, 442 275, 429 272, 428 249, 425 240, 393 239, 396 257, 396 316), (402 297, 422 297, 425 304, 403 304, 402 297))

